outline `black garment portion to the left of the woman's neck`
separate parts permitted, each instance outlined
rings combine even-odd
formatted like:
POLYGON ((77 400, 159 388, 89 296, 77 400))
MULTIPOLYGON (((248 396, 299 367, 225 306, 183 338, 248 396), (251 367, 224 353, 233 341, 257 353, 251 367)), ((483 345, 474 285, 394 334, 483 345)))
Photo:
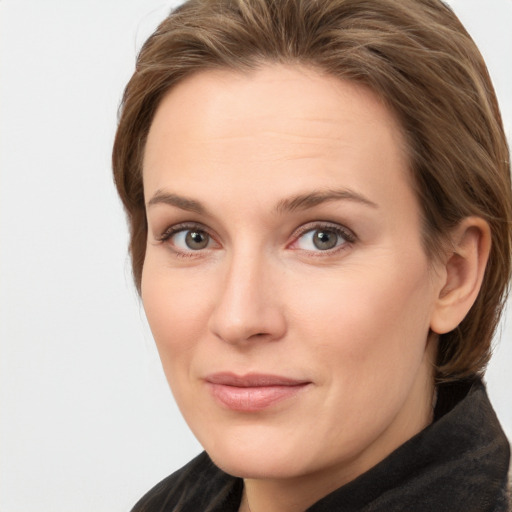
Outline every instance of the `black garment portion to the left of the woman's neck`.
POLYGON ((241 480, 219 469, 203 452, 148 491, 131 512, 236 511, 241 480))

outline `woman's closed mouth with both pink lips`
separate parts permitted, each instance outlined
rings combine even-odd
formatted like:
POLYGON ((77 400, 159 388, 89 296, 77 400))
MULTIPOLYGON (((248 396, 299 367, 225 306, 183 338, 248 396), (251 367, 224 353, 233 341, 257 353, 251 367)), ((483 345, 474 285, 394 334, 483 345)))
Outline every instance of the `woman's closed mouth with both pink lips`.
POLYGON ((290 399, 311 382, 279 375, 216 373, 205 379, 213 397, 233 411, 257 412, 290 399))

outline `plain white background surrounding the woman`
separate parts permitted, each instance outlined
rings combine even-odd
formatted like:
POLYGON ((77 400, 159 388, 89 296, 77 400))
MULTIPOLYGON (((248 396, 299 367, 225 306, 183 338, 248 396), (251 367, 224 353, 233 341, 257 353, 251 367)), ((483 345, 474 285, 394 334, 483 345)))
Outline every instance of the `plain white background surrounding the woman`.
MULTIPOLYGON (((452 4, 510 139, 512 1, 452 4)), ((110 170, 136 51, 171 5, 0 0, 0 512, 127 511, 200 450, 131 284, 110 170)), ((511 323, 487 374, 509 438, 511 323)))

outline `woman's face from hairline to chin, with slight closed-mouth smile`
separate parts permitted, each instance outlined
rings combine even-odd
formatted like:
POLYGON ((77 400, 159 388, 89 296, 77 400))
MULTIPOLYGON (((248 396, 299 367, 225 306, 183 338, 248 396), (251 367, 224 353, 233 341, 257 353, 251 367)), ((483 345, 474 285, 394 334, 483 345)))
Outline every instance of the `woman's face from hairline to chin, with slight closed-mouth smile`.
POLYGON ((225 471, 328 490, 429 422, 442 273, 410 181, 383 103, 308 68, 202 72, 162 101, 142 299, 225 471))

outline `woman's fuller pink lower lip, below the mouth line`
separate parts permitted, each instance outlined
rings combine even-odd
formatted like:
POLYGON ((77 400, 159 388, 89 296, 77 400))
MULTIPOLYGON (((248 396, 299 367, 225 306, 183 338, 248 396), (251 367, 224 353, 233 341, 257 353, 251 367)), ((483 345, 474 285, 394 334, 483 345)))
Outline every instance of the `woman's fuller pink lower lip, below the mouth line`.
POLYGON ((237 387, 208 383, 213 396, 233 411, 256 412, 295 396, 308 384, 237 387))

